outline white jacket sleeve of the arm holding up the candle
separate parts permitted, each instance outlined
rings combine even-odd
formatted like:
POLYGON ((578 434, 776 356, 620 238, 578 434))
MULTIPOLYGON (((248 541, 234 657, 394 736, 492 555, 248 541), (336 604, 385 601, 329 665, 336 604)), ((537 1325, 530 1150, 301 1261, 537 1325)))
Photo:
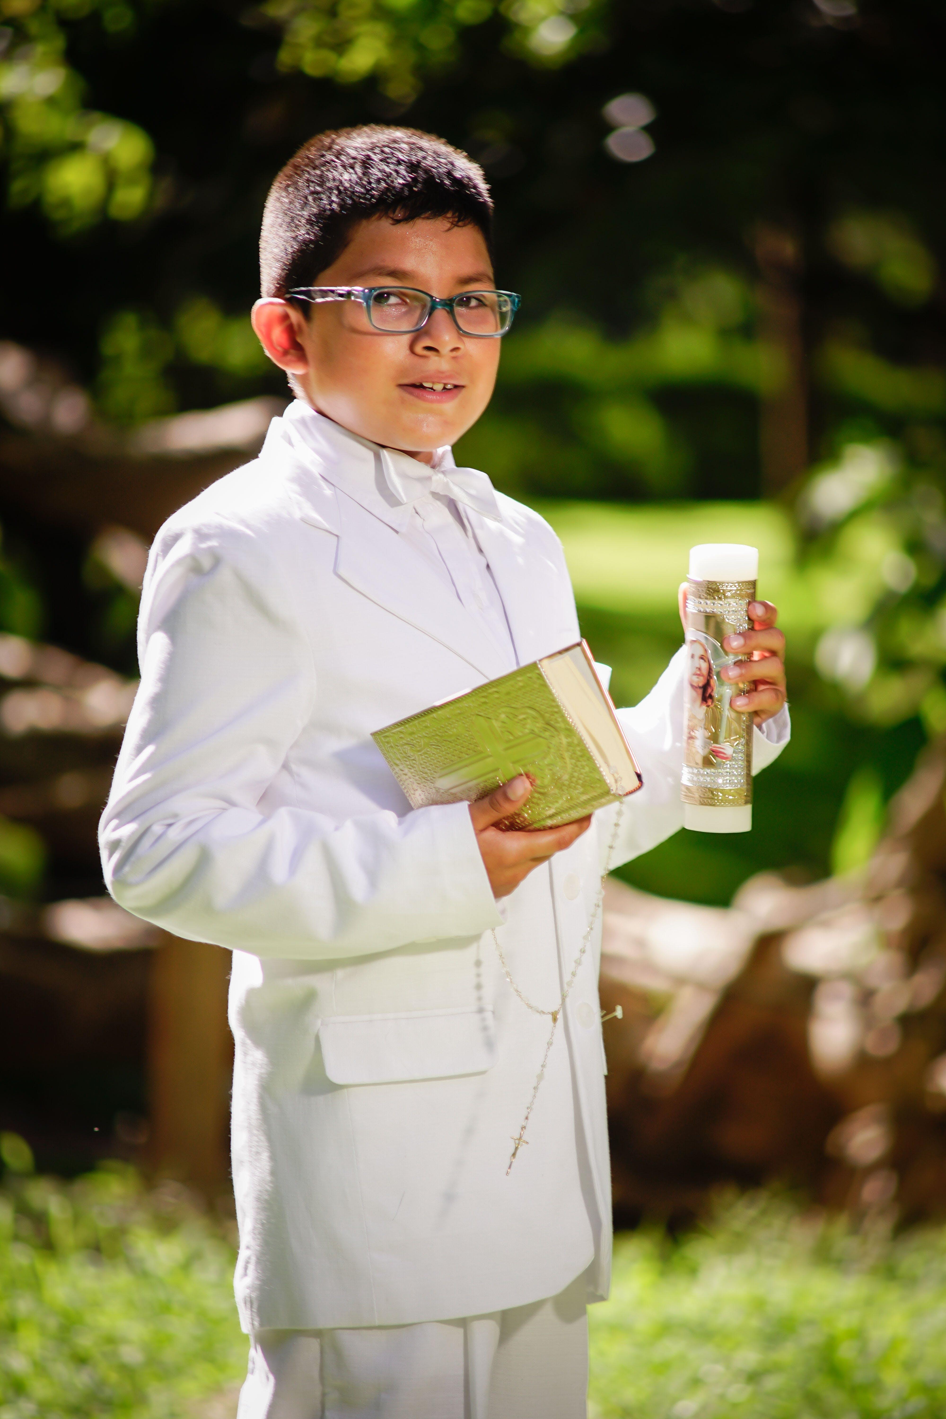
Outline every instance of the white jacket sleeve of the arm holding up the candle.
MULTIPOLYGON (((607 849, 618 806, 608 805, 596 815, 601 871, 648 853, 684 826, 684 805, 679 797, 684 766, 684 647, 677 651, 651 692, 633 710, 618 710, 617 717, 644 778, 644 788, 624 800, 610 861, 606 861, 607 849)), ((790 734, 787 707, 762 728, 756 727, 752 745, 753 775, 779 758, 790 734)))

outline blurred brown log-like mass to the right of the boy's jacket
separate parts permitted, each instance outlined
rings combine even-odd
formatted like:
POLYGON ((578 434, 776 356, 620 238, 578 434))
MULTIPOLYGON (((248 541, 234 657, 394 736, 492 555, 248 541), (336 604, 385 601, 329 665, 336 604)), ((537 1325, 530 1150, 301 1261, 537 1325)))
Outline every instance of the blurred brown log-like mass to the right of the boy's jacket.
POLYGON ((601 1005, 618 1220, 722 1182, 946 1215, 946 741, 868 868, 729 910, 610 881, 601 1005))

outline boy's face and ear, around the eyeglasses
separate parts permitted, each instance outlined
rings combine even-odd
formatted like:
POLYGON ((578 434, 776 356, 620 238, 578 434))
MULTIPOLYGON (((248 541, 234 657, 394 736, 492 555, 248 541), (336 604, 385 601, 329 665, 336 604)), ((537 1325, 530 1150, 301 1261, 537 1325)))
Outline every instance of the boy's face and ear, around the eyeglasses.
MULTIPOLYGON (((443 298, 491 289, 494 274, 474 226, 372 217, 312 284, 410 285, 443 298)), ((479 419, 496 382, 501 341, 461 335, 447 311, 434 311, 414 335, 387 335, 373 329, 360 301, 304 314, 268 299, 254 307, 252 324, 267 355, 295 375, 313 409, 424 461, 479 419)))

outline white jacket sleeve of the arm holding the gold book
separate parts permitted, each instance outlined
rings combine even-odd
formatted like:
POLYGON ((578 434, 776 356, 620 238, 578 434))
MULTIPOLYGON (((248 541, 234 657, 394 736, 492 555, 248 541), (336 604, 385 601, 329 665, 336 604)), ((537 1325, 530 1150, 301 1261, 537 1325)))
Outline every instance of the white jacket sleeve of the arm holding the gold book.
POLYGON ((165 532, 139 620, 142 683, 99 844, 128 911, 193 941, 323 959, 501 921, 465 803, 338 823, 260 802, 318 685, 265 539, 165 532))

